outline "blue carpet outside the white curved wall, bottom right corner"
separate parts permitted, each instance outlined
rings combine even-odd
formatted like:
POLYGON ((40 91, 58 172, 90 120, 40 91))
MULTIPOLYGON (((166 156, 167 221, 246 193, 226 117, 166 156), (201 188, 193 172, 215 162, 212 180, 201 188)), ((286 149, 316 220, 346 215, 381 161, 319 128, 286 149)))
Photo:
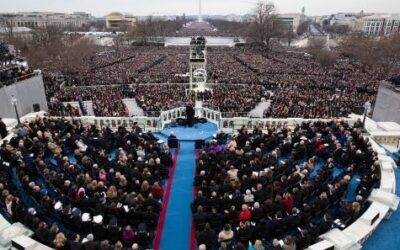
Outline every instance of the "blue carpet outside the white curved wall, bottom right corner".
MULTIPOLYGON (((396 194, 400 195, 400 170, 396 169, 396 194)), ((375 249, 399 249, 400 237, 400 211, 397 209, 389 220, 383 220, 378 226, 377 230, 372 234, 372 236, 364 243, 363 249, 375 250, 375 249)))

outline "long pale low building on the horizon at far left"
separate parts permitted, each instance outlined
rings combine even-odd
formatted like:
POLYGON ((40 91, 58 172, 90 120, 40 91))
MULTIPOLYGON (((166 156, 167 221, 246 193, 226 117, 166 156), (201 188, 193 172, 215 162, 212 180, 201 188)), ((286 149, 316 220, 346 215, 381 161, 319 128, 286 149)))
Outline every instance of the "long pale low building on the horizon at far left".
POLYGON ((81 28, 94 21, 88 13, 75 12, 73 14, 54 12, 18 12, 0 14, 2 27, 27 27, 31 29, 46 26, 81 28))

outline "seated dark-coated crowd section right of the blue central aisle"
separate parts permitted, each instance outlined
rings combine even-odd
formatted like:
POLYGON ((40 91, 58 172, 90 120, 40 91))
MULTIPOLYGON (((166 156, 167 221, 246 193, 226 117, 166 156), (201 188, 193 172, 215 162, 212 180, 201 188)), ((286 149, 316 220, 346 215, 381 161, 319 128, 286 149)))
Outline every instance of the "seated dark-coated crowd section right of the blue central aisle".
POLYGON ((354 222, 381 176, 361 126, 341 120, 266 132, 243 126, 231 140, 218 133, 197 151, 191 205, 197 244, 304 249, 354 222))

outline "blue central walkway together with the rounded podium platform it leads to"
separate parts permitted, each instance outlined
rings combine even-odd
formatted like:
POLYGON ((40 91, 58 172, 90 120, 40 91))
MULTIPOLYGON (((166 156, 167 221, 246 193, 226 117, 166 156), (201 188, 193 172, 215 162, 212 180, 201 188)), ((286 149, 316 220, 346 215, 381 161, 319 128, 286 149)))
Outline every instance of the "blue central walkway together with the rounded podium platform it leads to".
POLYGON ((161 214, 158 236, 154 249, 176 250, 191 248, 193 180, 196 169, 195 140, 209 139, 217 131, 212 123, 198 124, 193 128, 177 127, 164 130, 159 138, 166 139, 173 131, 180 140, 179 153, 174 170, 171 171, 165 191, 164 207, 161 214))

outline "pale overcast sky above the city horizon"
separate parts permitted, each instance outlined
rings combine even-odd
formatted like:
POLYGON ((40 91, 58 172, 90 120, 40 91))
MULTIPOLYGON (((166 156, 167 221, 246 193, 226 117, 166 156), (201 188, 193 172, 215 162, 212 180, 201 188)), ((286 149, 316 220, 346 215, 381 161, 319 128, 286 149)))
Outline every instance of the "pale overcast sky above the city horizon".
MULTIPOLYGON (((202 0, 204 14, 246 14, 257 0, 202 0)), ((281 13, 307 15, 336 12, 400 13, 400 0, 275 0, 281 13)), ((0 12, 85 11, 104 16, 113 11, 145 15, 186 15, 198 13, 198 0, 0 0, 0 12)))

